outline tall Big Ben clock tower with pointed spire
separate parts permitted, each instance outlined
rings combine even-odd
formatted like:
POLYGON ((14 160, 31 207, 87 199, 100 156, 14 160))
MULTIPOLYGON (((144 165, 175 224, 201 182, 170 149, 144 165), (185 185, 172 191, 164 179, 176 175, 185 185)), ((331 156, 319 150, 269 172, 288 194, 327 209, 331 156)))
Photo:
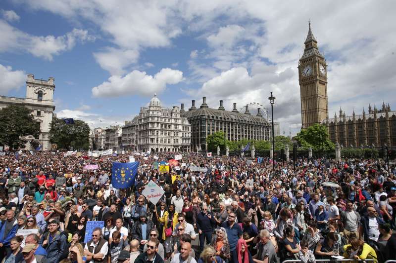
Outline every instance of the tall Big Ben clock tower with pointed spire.
POLYGON ((321 123, 329 117, 327 103, 327 65, 320 54, 309 22, 304 54, 298 62, 302 128, 321 123))

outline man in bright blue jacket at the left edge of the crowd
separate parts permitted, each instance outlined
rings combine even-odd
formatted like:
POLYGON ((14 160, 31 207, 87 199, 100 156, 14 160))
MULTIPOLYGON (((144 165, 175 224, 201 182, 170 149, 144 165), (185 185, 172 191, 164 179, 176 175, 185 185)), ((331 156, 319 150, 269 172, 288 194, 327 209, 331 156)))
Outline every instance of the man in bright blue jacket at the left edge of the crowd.
POLYGON ((11 254, 10 241, 18 230, 18 222, 14 216, 15 212, 12 209, 5 212, 6 220, 0 228, 0 257, 11 254))

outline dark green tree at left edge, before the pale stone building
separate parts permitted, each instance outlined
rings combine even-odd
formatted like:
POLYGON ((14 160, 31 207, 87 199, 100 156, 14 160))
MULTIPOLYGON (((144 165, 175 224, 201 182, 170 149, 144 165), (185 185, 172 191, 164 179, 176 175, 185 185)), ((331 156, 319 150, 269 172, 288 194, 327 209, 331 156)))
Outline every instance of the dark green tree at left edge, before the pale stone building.
POLYGON ((0 110, 0 144, 10 149, 25 147, 22 136, 40 134, 40 122, 34 119, 32 110, 17 105, 10 105, 0 110))

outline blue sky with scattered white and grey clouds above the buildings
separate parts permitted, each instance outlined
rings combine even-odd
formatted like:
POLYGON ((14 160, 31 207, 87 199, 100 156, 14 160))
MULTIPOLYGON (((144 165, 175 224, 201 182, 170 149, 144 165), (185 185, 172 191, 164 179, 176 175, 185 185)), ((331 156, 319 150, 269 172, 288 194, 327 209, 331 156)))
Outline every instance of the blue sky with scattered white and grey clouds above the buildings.
POLYGON ((281 132, 301 126, 298 59, 308 19, 328 64, 329 116, 396 107, 394 1, 3 0, 0 94, 55 77, 55 113, 120 124, 152 94, 164 106, 277 98, 281 132))

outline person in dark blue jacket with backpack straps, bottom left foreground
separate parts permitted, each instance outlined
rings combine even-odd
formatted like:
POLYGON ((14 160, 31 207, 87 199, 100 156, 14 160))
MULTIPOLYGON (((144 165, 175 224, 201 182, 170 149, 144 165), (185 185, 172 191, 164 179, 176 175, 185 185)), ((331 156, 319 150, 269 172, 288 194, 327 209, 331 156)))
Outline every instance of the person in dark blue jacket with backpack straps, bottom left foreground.
POLYGON ((49 232, 41 237, 40 244, 47 251, 48 263, 57 263, 66 247, 66 236, 58 230, 58 227, 59 221, 52 220, 49 222, 49 232))

